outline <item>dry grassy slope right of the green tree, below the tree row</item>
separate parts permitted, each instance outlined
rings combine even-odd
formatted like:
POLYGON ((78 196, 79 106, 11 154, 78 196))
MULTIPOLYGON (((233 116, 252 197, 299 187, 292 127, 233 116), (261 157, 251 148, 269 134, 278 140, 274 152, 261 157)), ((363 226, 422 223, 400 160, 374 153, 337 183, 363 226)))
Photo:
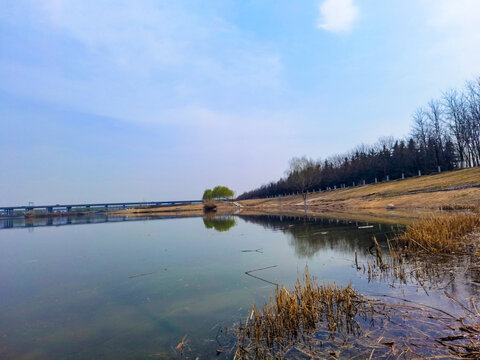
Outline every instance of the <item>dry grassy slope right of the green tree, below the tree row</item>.
MULTIPOLYGON (((438 210, 480 207, 480 167, 379 184, 311 193, 309 211, 334 211, 415 218, 438 210), (468 188, 462 188, 468 187, 468 188), (387 210, 387 208, 389 208, 387 210)), ((240 201, 245 211, 303 210, 301 195, 240 201)))

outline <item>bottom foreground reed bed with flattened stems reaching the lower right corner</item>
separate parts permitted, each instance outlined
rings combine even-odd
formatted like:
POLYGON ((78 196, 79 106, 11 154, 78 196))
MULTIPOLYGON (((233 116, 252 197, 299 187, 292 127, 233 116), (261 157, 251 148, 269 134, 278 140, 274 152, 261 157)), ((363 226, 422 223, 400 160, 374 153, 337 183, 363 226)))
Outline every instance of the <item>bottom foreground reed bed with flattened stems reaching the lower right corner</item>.
POLYGON ((240 322, 234 360, 478 358, 474 303, 456 317, 390 300, 367 298, 350 286, 319 285, 306 269, 293 289, 277 287, 263 307, 253 306, 240 322))

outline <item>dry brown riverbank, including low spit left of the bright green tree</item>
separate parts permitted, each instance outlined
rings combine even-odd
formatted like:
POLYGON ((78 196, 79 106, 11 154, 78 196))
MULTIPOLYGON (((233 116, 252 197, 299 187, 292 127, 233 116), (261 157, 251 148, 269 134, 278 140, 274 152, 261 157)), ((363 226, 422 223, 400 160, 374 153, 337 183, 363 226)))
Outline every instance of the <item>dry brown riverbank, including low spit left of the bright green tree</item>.
MULTIPOLYGON (((218 214, 304 216, 301 195, 218 203, 218 214), (240 205, 240 206, 239 206, 240 205)), ((363 221, 410 223, 432 213, 480 209, 480 167, 310 193, 307 215, 363 221)), ((185 204, 109 212, 123 216, 203 214, 203 204, 185 204)))

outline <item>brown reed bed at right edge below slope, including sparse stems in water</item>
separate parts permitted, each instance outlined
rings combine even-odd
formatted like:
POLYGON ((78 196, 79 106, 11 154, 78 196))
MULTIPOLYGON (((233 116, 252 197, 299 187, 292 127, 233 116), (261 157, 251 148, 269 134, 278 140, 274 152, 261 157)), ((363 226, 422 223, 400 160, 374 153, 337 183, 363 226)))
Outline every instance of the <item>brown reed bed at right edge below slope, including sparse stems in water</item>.
POLYGON ((421 219, 407 227, 382 247, 373 237, 374 260, 357 270, 363 270, 369 280, 390 279, 406 284, 414 280, 427 292, 425 283, 439 288, 451 283, 455 274, 480 274, 480 216, 454 214, 421 219))

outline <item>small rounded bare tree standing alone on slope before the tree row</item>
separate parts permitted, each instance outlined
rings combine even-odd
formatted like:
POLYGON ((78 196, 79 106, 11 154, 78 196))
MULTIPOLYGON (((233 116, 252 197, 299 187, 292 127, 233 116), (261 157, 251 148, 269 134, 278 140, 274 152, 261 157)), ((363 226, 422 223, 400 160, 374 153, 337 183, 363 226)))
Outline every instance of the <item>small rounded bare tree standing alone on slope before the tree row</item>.
POLYGON ((315 185, 318 180, 319 164, 308 159, 306 156, 301 158, 294 157, 289 162, 290 168, 286 171, 288 181, 293 184, 295 189, 302 194, 303 205, 307 206, 307 190, 315 185))

